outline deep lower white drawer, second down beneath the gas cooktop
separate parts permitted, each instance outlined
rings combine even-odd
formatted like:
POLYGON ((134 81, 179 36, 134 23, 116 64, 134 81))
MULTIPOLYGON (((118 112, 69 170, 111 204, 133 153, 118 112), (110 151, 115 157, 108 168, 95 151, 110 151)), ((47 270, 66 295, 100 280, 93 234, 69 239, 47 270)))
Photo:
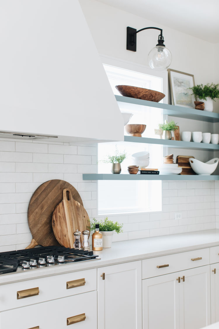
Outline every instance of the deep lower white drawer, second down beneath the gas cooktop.
POLYGON ((1 312, 0 328, 63 329, 67 318, 70 329, 97 329, 97 291, 1 312))

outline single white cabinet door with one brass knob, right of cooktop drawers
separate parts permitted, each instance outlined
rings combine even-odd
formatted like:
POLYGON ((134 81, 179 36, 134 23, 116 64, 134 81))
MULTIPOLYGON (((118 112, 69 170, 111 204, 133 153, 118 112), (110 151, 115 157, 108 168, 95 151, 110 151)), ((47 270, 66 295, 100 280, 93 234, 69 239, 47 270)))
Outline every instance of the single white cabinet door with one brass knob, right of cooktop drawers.
POLYGON ((98 268, 98 328, 142 329, 141 261, 98 268))

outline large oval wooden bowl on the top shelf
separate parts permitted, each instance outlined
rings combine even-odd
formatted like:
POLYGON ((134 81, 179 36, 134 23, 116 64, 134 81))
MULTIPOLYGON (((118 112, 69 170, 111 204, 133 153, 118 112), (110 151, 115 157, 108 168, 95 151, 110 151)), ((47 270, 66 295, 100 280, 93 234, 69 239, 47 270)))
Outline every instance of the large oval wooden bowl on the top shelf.
POLYGON ((160 100, 165 97, 163 92, 140 87, 119 85, 116 86, 116 89, 119 90, 122 96, 138 98, 152 102, 160 102, 160 100))

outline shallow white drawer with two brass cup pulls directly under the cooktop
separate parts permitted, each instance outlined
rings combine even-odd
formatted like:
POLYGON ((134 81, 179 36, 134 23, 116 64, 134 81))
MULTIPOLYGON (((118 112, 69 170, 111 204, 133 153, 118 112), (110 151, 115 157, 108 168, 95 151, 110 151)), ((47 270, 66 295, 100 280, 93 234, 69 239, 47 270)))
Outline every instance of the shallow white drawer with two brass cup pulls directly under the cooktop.
POLYGON ((96 268, 2 285, 0 286, 0 311, 96 289, 96 268))

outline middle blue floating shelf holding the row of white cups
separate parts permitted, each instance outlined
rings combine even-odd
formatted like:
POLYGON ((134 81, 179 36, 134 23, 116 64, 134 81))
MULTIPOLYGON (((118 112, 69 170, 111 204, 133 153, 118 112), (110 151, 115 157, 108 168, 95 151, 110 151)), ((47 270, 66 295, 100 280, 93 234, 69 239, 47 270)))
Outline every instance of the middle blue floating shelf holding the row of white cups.
POLYGON ((186 149, 202 150, 202 151, 219 151, 219 144, 205 144, 205 143, 195 143, 195 142, 184 142, 181 140, 168 140, 168 139, 156 139, 156 138, 133 137, 133 136, 124 136, 124 141, 135 142, 135 143, 146 143, 146 144, 159 144, 173 148, 186 148, 186 149))

